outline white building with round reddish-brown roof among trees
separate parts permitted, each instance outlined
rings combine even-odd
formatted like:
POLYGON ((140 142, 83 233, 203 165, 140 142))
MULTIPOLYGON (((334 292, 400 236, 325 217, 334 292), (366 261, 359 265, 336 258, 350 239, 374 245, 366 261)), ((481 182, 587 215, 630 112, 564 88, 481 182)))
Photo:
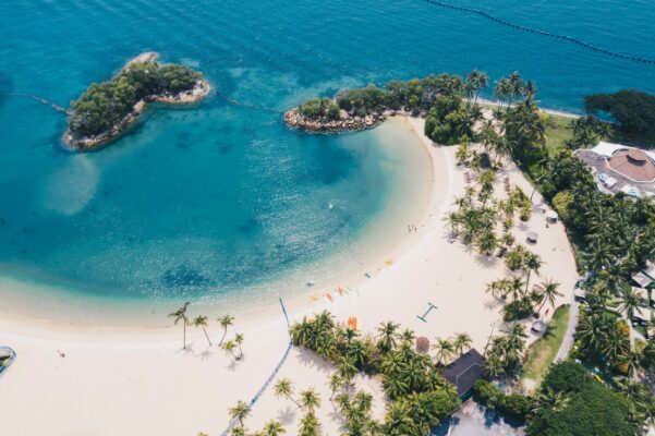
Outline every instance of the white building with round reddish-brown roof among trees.
POLYGON ((601 191, 655 196, 655 152, 601 142, 594 148, 575 150, 574 155, 591 168, 601 191))

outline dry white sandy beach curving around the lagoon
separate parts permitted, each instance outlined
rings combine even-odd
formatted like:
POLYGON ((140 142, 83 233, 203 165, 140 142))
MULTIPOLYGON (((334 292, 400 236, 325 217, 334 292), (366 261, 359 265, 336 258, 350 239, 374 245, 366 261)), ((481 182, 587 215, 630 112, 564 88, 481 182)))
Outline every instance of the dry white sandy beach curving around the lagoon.
MULTIPOLYGON (((429 207, 417 223, 417 232, 396 252, 372 259, 372 265, 377 265, 368 269, 372 277, 361 275, 350 282, 352 292, 342 296, 336 292, 331 302, 323 296, 312 303, 310 295, 318 291, 310 289, 304 303, 292 304, 289 315, 300 319, 326 308, 341 322, 356 316, 364 332, 374 331, 380 322, 395 320, 430 340, 466 331, 482 352, 492 325, 497 323, 495 328, 502 328, 498 323, 499 305, 485 293, 485 284, 507 271, 502 259, 480 255, 460 242, 447 242, 442 217, 465 185, 463 170, 456 167, 456 147, 434 146, 423 135, 423 120, 407 122, 424 141, 434 168, 429 207), (428 303, 437 310, 423 322, 417 315, 426 311, 428 303)), ((511 184, 530 195, 532 186, 520 171, 513 165, 507 168, 511 184)), ((496 184, 499 195, 505 194, 505 175, 499 174, 496 184)), ((543 213, 546 206, 538 193, 533 203, 533 217, 514 229, 517 241, 524 243, 527 231, 538 233, 538 243, 529 246, 544 262, 541 278, 535 281, 559 281, 565 296, 558 304, 569 302, 577 271, 563 226, 547 227, 543 213)), ((191 346, 182 351, 178 327, 98 332, 75 326, 50 328, 17 314, 0 317, 0 344, 11 346, 19 355, 0 377, 2 434, 220 435, 229 421, 228 408, 238 400, 250 401, 289 342, 279 306, 264 307, 258 318, 240 322, 238 317, 231 329, 245 336, 245 356, 238 363, 216 346, 208 348, 202 330, 193 327, 187 329, 191 346)), ((221 331, 214 323, 209 332, 216 342, 221 331)), ((293 349, 278 377, 291 378, 296 390, 316 388, 324 400, 317 412, 323 434, 336 435, 339 420, 328 401, 329 374, 329 365, 293 349)), ((363 378, 359 385, 375 395, 375 414, 381 416, 384 401, 376 380, 363 378)), ((287 426, 288 435, 295 435, 299 417, 292 403, 276 399, 268 389, 254 405, 246 426, 259 429, 266 421, 276 419, 287 426)))

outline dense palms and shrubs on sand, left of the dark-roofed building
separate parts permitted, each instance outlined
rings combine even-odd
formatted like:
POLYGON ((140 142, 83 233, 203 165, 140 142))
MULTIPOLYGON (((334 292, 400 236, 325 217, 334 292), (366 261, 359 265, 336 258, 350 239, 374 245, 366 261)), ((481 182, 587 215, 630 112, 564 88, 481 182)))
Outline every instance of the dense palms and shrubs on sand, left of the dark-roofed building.
MULTIPOLYGON (((337 370, 330 382, 332 397, 348 427, 357 435, 421 435, 454 412, 460 402, 452 385, 446 382, 429 355, 413 349, 412 331, 398 331, 395 323, 384 323, 377 337, 365 336, 338 325, 328 312, 303 319, 291 327, 296 346, 308 348, 332 362, 337 370), (371 399, 365 392, 353 393, 359 372, 379 374, 390 399, 385 422, 369 415, 371 399), (354 428, 357 428, 355 432, 354 428)), ((458 350, 470 346, 465 335, 453 339, 458 350)))

